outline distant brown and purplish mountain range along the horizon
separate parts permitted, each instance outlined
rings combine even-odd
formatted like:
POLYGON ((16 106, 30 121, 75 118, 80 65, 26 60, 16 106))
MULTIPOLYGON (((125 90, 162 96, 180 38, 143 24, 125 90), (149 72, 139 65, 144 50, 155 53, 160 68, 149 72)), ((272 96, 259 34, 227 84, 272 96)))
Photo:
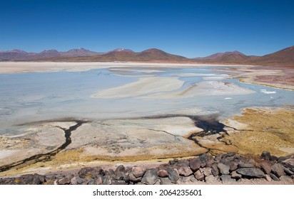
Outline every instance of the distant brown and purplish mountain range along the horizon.
POLYGON ((246 65, 273 65, 294 67, 294 46, 263 56, 244 55, 238 51, 216 53, 204 58, 185 58, 163 50, 151 48, 136 53, 133 50, 117 48, 106 53, 97 53, 85 48, 66 52, 44 50, 41 53, 27 53, 24 50, 0 51, 0 61, 133 61, 166 63, 223 63, 246 65))

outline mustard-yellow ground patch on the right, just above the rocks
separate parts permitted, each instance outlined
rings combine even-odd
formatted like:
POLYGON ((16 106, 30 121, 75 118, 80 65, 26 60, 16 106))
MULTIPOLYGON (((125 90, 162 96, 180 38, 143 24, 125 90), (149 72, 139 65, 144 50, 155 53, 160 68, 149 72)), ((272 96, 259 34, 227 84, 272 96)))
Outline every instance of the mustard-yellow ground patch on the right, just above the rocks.
POLYGON ((275 156, 292 154, 294 151, 294 110, 245 109, 237 122, 248 124, 248 131, 230 134, 232 144, 240 154, 260 154, 270 151, 275 156))

